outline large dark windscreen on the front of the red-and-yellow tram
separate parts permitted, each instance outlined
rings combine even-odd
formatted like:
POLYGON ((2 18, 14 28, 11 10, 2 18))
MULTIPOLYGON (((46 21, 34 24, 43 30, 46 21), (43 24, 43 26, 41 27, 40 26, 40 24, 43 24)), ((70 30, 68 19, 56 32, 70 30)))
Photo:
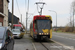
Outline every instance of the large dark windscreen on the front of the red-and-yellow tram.
POLYGON ((38 29, 50 29, 50 20, 37 20, 38 29))

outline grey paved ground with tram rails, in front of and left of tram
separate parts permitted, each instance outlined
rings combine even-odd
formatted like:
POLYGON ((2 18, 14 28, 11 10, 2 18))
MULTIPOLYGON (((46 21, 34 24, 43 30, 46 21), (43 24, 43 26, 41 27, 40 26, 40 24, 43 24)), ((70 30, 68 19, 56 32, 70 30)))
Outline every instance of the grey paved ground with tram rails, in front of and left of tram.
MULTIPOLYGON (((54 37, 53 37, 54 38, 54 37)), ((22 39, 15 39, 14 50, 71 50, 53 41, 35 41, 29 34, 25 34, 22 39)))

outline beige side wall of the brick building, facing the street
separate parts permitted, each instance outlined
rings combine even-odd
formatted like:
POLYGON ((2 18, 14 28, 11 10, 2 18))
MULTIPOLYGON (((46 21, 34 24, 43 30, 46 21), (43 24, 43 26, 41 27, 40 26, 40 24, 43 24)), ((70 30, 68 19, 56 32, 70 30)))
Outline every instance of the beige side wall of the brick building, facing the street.
POLYGON ((5 14, 3 20, 3 26, 8 26, 8 2, 7 0, 3 0, 3 14, 5 14))

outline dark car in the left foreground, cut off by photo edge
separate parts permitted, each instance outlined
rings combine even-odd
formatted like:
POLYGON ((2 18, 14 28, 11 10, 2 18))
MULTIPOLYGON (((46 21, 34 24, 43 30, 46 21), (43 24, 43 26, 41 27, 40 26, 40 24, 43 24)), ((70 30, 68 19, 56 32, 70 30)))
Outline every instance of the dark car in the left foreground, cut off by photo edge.
POLYGON ((8 27, 0 27, 0 50, 13 50, 14 37, 8 27))

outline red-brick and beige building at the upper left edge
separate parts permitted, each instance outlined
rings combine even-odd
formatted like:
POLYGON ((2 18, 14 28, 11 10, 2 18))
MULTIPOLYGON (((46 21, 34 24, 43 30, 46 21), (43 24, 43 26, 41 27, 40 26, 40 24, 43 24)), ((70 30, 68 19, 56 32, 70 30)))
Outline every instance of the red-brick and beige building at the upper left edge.
POLYGON ((9 0, 0 0, 0 26, 8 26, 9 0))

